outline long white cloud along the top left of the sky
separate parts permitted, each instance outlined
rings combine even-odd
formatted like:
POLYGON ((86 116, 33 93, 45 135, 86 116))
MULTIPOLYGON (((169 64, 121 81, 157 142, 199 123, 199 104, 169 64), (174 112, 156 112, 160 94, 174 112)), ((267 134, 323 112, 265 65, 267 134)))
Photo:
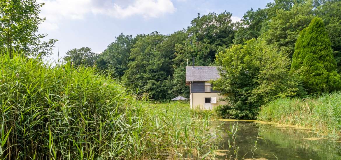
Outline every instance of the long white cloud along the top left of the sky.
POLYGON ((46 30, 58 29, 58 23, 64 19, 85 19, 87 14, 114 18, 127 18, 135 15, 143 18, 157 18, 176 11, 170 0, 123 1, 128 3, 125 5, 113 1, 91 0, 39 0, 39 2, 45 3, 41 8, 41 17, 46 17, 46 21, 40 27, 46 30))

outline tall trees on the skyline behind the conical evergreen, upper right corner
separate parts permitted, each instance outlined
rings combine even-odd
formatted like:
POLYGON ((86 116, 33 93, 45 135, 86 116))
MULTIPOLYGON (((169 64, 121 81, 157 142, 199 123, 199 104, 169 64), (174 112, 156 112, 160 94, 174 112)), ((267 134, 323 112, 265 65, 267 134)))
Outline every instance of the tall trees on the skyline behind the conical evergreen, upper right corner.
MULTIPOLYGON (((275 45, 291 58, 299 32, 314 17, 321 17, 327 27, 335 57, 341 59, 340 21, 338 12, 341 1, 275 0, 266 8, 252 9, 237 22, 235 44, 243 44, 251 38, 261 37, 267 44, 275 45)), ((338 65, 338 66, 341 66, 338 65)))

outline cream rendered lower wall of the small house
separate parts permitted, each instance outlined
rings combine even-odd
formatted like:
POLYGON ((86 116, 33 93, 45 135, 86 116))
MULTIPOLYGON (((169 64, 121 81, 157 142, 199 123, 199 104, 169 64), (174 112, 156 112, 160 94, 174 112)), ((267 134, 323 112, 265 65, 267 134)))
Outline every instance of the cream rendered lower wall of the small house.
POLYGON ((190 94, 190 104, 191 108, 199 107, 200 109, 205 109, 205 97, 217 97, 217 103, 211 103, 212 108, 219 105, 226 105, 226 102, 220 101, 220 98, 225 96, 220 96, 218 93, 191 93, 190 94))

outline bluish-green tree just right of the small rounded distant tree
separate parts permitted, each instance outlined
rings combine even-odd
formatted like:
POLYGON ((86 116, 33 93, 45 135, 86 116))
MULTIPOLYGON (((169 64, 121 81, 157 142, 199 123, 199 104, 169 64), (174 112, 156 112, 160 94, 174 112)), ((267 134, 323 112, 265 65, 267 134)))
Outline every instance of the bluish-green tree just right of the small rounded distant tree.
POLYGON ((109 71, 114 77, 122 77, 124 71, 128 69, 130 50, 139 37, 143 37, 143 35, 132 37, 132 35, 123 35, 121 33, 118 37, 115 37, 115 42, 111 43, 99 55, 96 61, 97 67, 103 71, 109 71))

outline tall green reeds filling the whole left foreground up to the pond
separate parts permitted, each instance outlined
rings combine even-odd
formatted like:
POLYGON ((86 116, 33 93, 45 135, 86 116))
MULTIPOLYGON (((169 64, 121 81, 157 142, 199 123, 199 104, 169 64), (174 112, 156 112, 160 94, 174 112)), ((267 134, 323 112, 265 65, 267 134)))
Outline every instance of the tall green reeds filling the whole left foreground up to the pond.
POLYGON ((207 157, 206 118, 155 107, 91 67, 0 56, 0 159, 207 157))

